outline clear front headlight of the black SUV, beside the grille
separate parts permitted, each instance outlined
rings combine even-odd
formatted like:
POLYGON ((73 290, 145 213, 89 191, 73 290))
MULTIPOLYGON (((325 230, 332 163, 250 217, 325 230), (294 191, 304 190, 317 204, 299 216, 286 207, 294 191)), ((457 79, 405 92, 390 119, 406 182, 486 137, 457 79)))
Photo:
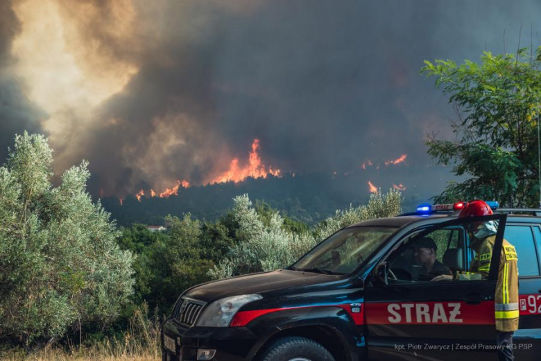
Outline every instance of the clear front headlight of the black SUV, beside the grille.
POLYGON ((197 326, 227 327, 243 305, 262 298, 261 294, 241 294, 214 301, 205 309, 197 326))

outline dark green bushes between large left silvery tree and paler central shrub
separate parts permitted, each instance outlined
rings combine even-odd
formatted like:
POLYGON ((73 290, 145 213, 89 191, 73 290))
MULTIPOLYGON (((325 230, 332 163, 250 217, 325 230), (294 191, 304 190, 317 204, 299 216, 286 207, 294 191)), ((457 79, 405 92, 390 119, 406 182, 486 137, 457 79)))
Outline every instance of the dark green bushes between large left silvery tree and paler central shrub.
MULTIPOLYGON (((137 255, 133 303, 145 301, 164 314, 170 312, 180 292, 209 280, 207 271, 224 247, 224 230, 218 224, 201 224, 189 214, 182 219, 168 217, 167 222, 167 233, 152 233, 146 226, 135 225, 124 229, 119 238, 123 249, 137 255)), ((127 310, 125 316, 131 314, 127 310)))

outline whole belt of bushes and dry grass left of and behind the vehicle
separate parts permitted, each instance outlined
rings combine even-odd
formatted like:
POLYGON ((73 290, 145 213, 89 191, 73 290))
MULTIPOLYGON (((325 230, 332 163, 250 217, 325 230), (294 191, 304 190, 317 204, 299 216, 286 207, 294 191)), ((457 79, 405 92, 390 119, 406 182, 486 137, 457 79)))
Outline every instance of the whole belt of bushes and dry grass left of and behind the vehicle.
POLYGON ((160 323, 192 285, 291 265, 339 228, 401 211, 372 194, 309 226, 236 196, 216 221, 166 217, 166 232, 117 228, 87 192, 87 162, 53 186, 42 135, 18 135, 0 167, 0 356, 156 360, 160 323))

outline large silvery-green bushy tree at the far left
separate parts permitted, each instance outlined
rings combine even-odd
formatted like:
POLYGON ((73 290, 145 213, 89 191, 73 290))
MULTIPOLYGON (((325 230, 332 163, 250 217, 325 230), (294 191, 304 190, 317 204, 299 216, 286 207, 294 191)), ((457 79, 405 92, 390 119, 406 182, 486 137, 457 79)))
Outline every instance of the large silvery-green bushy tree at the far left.
POLYGON ((132 292, 132 255, 86 192, 87 162, 51 185, 42 135, 17 135, 0 167, 0 339, 24 344, 110 323, 132 292))

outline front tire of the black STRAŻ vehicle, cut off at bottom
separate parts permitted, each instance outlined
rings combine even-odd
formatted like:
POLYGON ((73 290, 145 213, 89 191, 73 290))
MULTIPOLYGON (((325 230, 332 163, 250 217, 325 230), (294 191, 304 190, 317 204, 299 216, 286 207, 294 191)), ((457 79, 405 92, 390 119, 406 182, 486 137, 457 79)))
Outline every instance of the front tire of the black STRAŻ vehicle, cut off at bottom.
POLYGON ((261 361, 334 361, 331 353, 304 337, 278 339, 261 355, 261 361))

